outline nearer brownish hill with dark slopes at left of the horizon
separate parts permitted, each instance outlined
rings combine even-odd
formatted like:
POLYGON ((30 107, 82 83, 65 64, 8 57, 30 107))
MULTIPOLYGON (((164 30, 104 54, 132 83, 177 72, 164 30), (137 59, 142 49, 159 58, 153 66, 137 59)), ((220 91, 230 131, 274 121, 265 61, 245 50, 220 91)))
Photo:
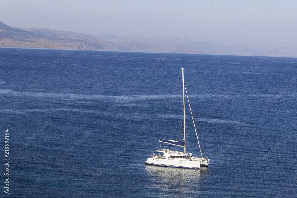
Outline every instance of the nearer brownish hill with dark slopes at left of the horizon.
POLYGON ((92 35, 49 29, 17 29, 0 22, 1 47, 116 49, 116 44, 92 35))

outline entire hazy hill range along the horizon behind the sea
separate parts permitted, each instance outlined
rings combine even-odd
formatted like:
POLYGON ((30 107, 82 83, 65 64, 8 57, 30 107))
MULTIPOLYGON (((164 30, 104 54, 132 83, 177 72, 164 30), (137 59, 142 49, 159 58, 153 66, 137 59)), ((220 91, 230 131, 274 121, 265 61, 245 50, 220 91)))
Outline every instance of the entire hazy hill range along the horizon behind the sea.
POLYGON ((43 28, 12 28, 0 22, 0 47, 34 47, 58 49, 130 50, 175 53, 210 53, 297 56, 297 48, 282 48, 268 52, 268 48, 230 45, 221 50, 222 45, 207 42, 192 42, 187 38, 152 39, 135 36, 114 36, 81 34, 71 31, 58 31, 43 28))

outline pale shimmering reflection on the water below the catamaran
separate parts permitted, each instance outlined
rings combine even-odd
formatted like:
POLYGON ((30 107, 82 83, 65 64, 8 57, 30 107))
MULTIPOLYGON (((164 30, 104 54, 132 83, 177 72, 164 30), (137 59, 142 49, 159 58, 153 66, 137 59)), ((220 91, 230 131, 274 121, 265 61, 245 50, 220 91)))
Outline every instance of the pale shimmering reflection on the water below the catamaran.
MULTIPOLYGON (((172 167, 145 165, 146 179, 150 190, 157 190, 158 197, 162 196, 197 196, 200 194, 203 182, 208 179, 208 167, 200 170, 176 169, 172 167), (195 186, 195 189, 193 188, 195 186), (160 192, 162 195, 160 196, 160 192)), ((154 196, 154 195, 152 195, 154 196)))

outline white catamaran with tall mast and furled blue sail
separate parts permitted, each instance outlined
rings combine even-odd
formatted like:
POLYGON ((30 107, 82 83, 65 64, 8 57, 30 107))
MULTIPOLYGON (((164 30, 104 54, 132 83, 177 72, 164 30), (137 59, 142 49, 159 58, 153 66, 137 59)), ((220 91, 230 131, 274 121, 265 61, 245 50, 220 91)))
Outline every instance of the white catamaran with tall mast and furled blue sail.
MULTIPOLYGON (((161 146, 160 149, 156 150, 157 154, 155 154, 155 153, 153 153, 153 155, 150 154, 150 157, 146 160, 146 162, 144 164, 165 166, 165 167, 190 168, 190 169, 199 169, 200 165, 208 166, 208 164, 209 164, 209 159, 202 156, 200 143, 198 140, 198 135, 197 135, 194 118, 193 118, 193 114, 192 114, 192 109, 191 109, 191 105, 189 102, 187 89, 184 84, 184 67, 181 68, 181 71, 182 71, 182 81, 183 81, 182 82, 182 86, 183 86, 182 87, 182 90, 183 90, 183 126, 182 126, 183 140, 180 140, 180 141, 165 140, 165 139, 161 140, 161 138, 160 138, 159 142, 166 143, 166 144, 169 144, 172 146, 183 147, 184 152, 171 150, 172 147, 170 147, 169 149, 165 149, 165 148, 162 149, 162 146, 161 146), (186 153, 185 91, 187 94, 187 99, 188 99, 189 107, 191 110, 192 120, 193 120, 193 124, 194 124, 194 128, 195 128, 195 132, 196 132, 198 145, 200 148, 201 157, 189 156, 189 154, 186 153)), ((192 154, 192 153, 190 153, 190 154, 192 154)))

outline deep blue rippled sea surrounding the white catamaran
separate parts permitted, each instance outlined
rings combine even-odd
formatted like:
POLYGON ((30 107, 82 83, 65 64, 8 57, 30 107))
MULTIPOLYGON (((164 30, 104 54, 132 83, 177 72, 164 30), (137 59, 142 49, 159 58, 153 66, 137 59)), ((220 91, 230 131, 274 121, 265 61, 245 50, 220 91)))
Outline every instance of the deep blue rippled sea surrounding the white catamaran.
POLYGON ((0 144, 4 129, 10 141, 9 195, 2 165, 0 197, 297 197, 297 59, 160 58, 0 48, 0 144), (182 62, 210 166, 146 166, 182 62))

